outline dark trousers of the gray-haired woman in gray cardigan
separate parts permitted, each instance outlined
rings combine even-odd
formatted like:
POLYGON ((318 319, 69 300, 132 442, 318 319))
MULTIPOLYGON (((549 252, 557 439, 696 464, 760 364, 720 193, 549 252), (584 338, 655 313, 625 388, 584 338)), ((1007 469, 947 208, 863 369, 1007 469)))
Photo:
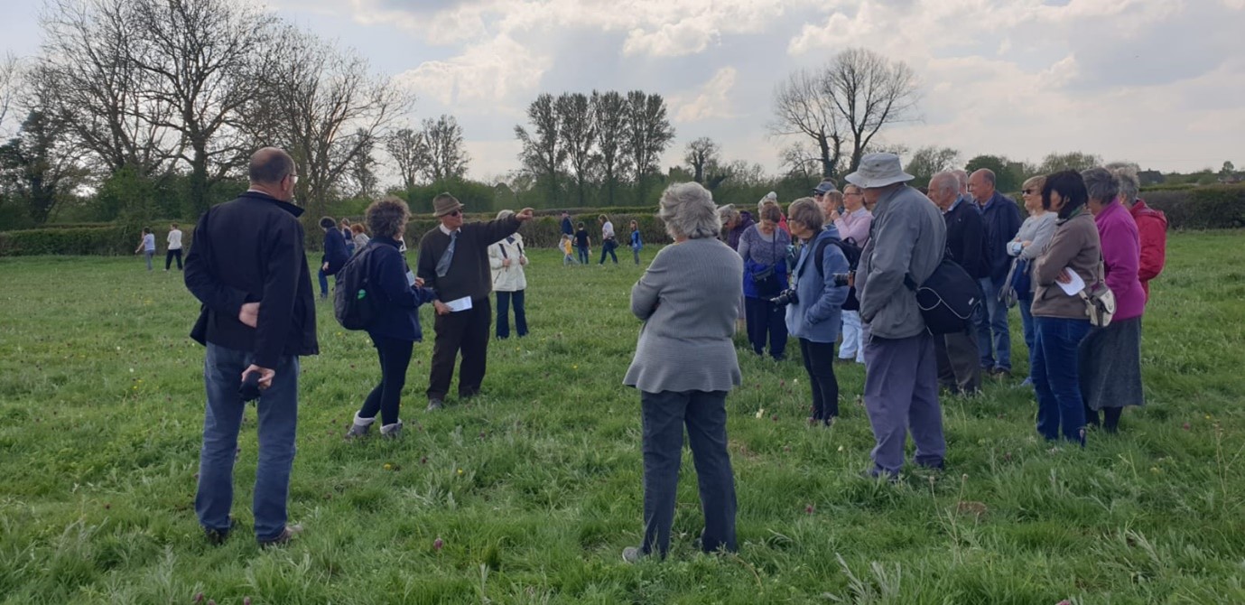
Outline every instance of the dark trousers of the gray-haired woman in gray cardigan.
POLYGON ((645 554, 670 550, 675 522, 679 466, 684 453, 684 426, 692 447, 700 483, 706 553, 738 549, 735 542, 735 474, 726 449, 726 391, 640 392, 644 423, 644 544, 645 554))

